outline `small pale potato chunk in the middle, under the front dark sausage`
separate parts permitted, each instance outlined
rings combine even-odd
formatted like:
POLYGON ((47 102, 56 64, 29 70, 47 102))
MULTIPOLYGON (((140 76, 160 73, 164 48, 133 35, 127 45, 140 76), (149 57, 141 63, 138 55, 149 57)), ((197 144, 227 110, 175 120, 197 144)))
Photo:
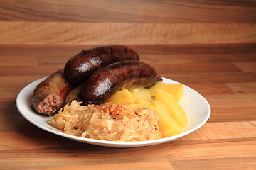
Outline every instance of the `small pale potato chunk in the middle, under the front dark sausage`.
POLYGON ((128 90, 135 96, 135 98, 137 98, 137 100, 142 99, 147 102, 152 101, 149 89, 145 89, 144 87, 139 87, 139 88, 130 88, 128 90))

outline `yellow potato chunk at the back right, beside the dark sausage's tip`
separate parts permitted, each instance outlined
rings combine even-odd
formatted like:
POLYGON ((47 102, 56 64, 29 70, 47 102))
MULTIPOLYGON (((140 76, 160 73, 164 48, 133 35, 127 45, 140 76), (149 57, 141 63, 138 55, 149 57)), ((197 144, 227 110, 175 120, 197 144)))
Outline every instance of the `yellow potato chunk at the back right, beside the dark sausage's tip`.
POLYGON ((162 89, 167 91, 169 94, 174 95, 174 97, 179 100, 183 96, 184 93, 184 86, 183 84, 167 84, 158 81, 154 86, 149 88, 151 96, 156 96, 156 90, 162 89))

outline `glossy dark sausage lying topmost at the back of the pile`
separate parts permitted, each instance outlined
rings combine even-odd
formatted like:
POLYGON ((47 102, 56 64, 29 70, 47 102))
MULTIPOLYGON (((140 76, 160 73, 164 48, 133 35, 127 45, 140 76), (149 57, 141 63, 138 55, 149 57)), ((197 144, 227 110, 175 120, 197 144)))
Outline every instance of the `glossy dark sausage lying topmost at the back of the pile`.
POLYGON ((94 47, 70 58, 65 64, 64 74, 73 84, 82 84, 97 69, 126 60, 139 60, 139 55, 124 45, 94 47))

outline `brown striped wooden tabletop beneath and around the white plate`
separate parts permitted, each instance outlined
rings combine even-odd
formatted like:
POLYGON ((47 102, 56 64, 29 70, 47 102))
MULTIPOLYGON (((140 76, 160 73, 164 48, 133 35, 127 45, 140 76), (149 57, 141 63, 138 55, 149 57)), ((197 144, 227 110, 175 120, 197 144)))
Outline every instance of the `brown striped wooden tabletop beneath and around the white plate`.
POLYGON ((129 45, 163 77, 202 94, 202 128, 160 145, 111 148, 53 135, 24 119, 16 96, 85 46, 0 46, 0 169, 256 169, 256 45, 129 45))

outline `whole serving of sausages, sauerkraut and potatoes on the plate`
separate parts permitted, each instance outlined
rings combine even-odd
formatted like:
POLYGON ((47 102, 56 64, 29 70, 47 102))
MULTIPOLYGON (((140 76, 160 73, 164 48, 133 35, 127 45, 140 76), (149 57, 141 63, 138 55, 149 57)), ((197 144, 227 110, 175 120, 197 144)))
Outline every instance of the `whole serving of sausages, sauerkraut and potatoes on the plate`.
POLYGON ((177 135, 188 125, 178 103, 183 84, 166 84, 123 45, 83 50, 33 91, 33 106, 69 135, 141 141, 177 135))

